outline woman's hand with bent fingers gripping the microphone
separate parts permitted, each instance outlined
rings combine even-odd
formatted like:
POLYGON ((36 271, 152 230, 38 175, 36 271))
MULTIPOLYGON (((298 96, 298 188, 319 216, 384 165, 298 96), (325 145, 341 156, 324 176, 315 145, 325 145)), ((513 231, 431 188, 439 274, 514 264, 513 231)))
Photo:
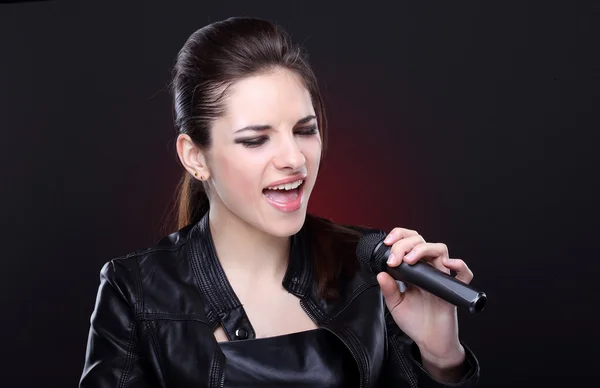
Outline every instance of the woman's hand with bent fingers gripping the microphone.
MULTIPOLYGON (((464 261, 449 258, 446 245, 427 243, 414 230, 394 228, 384 244, 392 247, 389 267, 425 260, 446 273, 456 271, 456 278, 464 283, 473 279, 464 261)), ((419 347, 426 369, 430 366, 441 373, 462 365, 465 350, 458 339, 456 306, 408 284, 401 293, 396 280, 385 272, 379 273, 377 280, 394 321, 419 347)))

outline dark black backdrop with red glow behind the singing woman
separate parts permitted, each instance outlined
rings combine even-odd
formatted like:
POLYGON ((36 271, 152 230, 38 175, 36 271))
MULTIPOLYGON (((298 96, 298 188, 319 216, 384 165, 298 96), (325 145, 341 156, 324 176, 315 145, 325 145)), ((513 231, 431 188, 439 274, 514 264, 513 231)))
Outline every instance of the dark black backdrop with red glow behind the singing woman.
POLYGON ((165 87, 187 37, 229 16, 275 20, 311 55, 331 125, 311 211, 417 229, 469 263, 489 297, 460 315, 482 386, 595 379, 598 11, 0 5, 2 385, 76 386, 102 264, 173 230, 165 87))

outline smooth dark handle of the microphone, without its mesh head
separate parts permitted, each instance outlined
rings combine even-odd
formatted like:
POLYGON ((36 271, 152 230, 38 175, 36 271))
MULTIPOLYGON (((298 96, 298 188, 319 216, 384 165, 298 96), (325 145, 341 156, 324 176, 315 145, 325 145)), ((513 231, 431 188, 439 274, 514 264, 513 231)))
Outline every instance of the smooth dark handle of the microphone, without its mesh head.
POLYGON ((422 288, 457 307, 465 307, 470 313, 481 312, 487 301, 484 292, 427 263, 419 261, 409 265, 402 262, 397 267, 388 267, 384 263, 383 266, 394 279, 422 288))

